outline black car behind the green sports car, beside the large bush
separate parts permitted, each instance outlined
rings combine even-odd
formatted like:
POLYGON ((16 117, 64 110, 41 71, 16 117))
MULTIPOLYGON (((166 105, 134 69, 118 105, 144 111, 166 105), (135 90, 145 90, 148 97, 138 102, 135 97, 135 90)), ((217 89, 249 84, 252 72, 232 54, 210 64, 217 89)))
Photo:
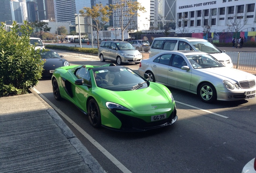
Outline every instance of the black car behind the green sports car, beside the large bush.
POLYGON ((64 56, 59 55, 54 50, 42 50, 40 51, 40 55, 41 60, 45 61, 42 76, 52 76, 55 68, 69 66, 69 62, 63 58, 64 56))

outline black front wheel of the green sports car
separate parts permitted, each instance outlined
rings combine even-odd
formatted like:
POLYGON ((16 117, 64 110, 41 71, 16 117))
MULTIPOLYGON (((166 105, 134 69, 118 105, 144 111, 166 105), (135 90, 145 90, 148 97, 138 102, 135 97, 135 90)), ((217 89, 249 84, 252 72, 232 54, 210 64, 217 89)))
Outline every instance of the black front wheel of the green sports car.
POLYGON ((87 113, 91 125, 95 128, 101 127, 101 113, 95 99, 90 99, 87 104, 87 113))

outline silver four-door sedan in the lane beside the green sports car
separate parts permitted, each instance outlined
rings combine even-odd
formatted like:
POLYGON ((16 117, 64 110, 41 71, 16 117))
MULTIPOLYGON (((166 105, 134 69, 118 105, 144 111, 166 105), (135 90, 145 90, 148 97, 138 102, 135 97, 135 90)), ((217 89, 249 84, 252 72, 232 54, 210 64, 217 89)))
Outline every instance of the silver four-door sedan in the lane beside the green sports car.
POLYGON ((149 74, 150 81, 197 94, 206 103, 255 98, 255 75, 225 67, 205 52, 161 52, 142 60, 138 71, 149 74))

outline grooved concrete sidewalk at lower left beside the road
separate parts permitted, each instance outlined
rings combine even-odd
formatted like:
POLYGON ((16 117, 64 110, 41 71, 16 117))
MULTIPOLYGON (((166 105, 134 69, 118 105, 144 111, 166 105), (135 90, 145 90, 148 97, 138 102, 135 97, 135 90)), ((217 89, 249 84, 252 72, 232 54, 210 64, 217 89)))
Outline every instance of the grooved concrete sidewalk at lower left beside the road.
POLYGON ((54 109, 31 92, 0 97, 0 172, 106 173, 54 109))

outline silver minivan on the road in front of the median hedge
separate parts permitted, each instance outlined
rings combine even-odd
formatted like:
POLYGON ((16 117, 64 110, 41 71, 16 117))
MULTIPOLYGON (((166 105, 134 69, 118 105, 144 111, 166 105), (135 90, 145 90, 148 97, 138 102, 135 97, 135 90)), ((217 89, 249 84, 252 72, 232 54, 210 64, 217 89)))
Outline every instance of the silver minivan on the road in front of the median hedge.
POLYGON ((98 49, 98 56, 101 62, 111 60, 116 61, 119 65, 132 62, 139 64, 142 60, 142 54, 132 44, 124 41, 101 42, 98 49))

